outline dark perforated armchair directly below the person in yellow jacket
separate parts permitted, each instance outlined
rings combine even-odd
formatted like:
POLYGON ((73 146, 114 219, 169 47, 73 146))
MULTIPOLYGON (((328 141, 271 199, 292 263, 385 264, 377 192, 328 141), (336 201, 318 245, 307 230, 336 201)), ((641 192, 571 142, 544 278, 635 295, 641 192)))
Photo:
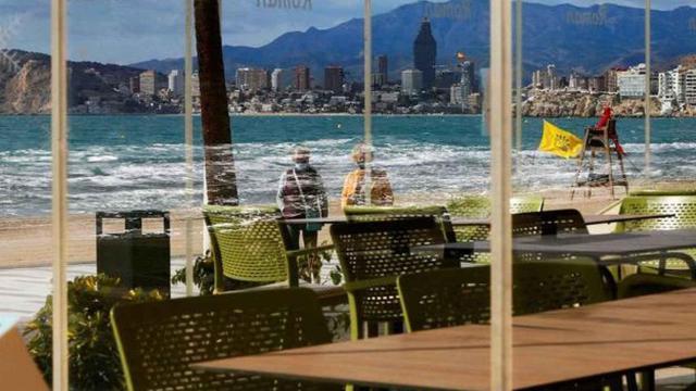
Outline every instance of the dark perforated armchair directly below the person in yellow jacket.
POLYGON ((402 321, 398 276, 459 264, 442 254, 411 253, 417 245, 445 243, 434 217, 334 224, 331 236, 346 281, 352 339, 364 336, 365 323, 370 336, 378 323, 402 321))

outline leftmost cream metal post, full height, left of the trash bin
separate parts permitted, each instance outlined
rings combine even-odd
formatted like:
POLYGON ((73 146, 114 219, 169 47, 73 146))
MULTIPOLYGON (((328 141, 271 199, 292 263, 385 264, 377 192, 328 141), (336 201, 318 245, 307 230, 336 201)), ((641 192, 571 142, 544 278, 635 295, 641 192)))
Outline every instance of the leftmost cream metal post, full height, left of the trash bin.
POLYGON ((67 350, 67 45, 66 2, 51 0, 51 151, 53 245, 53 387, 69 390, 67 350))

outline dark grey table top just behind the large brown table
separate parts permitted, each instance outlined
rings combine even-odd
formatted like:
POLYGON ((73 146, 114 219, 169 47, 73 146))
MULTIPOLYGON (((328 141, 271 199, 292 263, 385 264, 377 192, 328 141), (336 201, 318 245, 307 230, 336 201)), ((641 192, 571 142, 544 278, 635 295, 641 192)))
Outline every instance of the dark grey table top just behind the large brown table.
MULTIPOLYGON (((696 248, 696 229, 652 230, 602 235, 559 235, 512 238, 512 251, 587 256, 633 255, 696 248)), ((412 251, 489 252, 490 242, 423 245, 412 251)))

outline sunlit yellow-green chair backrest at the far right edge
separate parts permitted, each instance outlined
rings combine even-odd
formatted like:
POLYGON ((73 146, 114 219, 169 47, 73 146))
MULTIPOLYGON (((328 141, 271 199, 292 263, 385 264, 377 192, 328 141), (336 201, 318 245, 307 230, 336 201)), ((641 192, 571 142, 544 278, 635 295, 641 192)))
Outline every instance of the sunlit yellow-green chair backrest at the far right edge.
POLYGON ((635 195, 621 201, 620 214, 674 214, 617 224, 617 231, 668 230, 696 227, 696 195, 635 195))

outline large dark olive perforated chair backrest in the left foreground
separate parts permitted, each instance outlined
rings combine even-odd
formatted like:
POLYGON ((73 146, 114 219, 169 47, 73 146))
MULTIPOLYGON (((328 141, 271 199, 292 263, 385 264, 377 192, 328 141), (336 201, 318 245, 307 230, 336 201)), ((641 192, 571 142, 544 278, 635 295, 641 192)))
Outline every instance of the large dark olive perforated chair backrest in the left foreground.
POLYGON ((331 342, 316 297, 301 288, 116 305, 111 319, 127 388, 138 391, 304 390, 190 365, 331 342))

